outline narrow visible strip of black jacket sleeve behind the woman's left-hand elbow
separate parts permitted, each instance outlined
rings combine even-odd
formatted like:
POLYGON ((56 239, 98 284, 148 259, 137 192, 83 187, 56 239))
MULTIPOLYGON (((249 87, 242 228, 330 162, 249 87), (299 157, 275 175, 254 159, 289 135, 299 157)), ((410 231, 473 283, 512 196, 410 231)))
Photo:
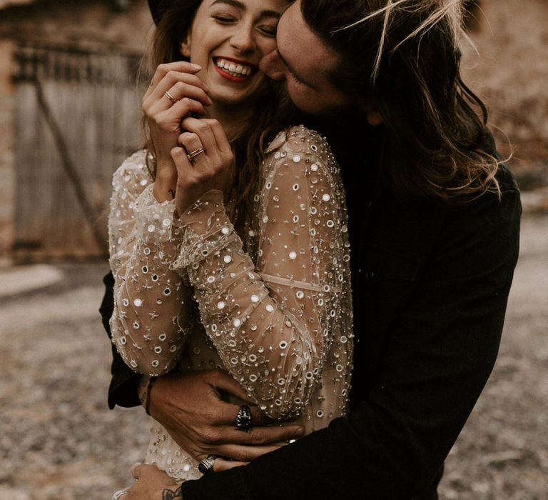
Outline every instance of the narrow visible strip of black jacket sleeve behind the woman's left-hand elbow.
MULTIPOLYGON (((114 309, 113 287, 114 278, 112 273, 106 274, 103 278, 105 284, 105 295, 99 308, 103 327, 108 334, 108 338, 112 339, 111 327, 108 320, 111 319, 114 309)), ((116 351, 116 346, 111 344, 112 348, 112 363, 111 363, 111 384, 108 387, 108 408, 113 409, 116 404, 118 406, 138 406, 139 399, 137 395, 137 383, 139 375, 131 371, 131 369, 123 362, 120 354, 116 351)))

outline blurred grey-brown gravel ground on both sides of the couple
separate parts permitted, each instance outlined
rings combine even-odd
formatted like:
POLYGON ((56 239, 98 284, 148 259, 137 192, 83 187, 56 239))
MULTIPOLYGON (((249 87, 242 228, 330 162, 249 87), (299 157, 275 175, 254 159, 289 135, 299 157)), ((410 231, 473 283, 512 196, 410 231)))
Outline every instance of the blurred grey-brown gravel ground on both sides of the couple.
MULTIPOLYGON (((547 498, 547 228, 546 214, 523 221, 497 366, 447 459, 442 499, 547 498)), ((146 418, 106 409, 106 265, 54 269, 56 284, 0 296, 0 499, 108 500, 143 454, 146 418)))

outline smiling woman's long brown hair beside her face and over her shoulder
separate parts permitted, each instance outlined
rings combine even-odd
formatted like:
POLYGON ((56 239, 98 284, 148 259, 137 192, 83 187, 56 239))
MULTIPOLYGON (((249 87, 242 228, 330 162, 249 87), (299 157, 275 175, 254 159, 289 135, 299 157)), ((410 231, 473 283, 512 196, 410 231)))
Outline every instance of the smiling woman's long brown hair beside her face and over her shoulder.
MULTIPOLYGON (((153 10, 156 31, 149 45, 148 54, 143 59, 141 69, 147 79, 151 79, 159 64, 188 60, 181 54, 181 41, 191 29, 194 16, 203 0, 163 1, 153 10)), ((253 116, 248 125, 230 144, 235 155, 235 179, 230 199, 235 201, 236 213, 233 216, 235 228, 245 239, 243 228, 253 219, 254 197, 259 186, 260 164, 264 159, 265 144, 273 139, 276 132, 290 124, 295 108, 280 95, 278 86, 268 85, 253 107, 253 116)), ((143 117, 146 146, 154 151, 143 117)))

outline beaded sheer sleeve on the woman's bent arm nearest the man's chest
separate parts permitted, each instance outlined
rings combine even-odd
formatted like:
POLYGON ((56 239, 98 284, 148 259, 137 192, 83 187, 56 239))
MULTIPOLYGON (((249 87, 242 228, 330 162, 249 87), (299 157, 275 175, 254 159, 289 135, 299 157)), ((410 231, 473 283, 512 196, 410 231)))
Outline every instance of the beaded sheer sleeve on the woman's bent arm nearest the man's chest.
POLYGON ((281 419, 303 411, 323 371, 348 380, 350 256, 344 191, 325 141, 290 129, 273 141, 263 167, 250 231, 255 261, 223 193, 212 190, 178 220, 182 244, 173 269, 188 273, 225 369, 281 419))

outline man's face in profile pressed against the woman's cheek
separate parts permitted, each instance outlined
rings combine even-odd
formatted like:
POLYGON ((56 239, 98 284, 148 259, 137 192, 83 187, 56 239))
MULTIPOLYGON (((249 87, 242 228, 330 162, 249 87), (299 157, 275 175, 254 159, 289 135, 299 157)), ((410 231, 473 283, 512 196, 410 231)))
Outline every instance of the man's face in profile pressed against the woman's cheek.
POLYGON ((281 17, 276 41, 278 49, 263 57, 260 69, 274 80, 287 82, 298 109, 325 114, 350 106, 347 96, 328 79, 338 55, 310 30, 300 11, 300 0, 281 17))

